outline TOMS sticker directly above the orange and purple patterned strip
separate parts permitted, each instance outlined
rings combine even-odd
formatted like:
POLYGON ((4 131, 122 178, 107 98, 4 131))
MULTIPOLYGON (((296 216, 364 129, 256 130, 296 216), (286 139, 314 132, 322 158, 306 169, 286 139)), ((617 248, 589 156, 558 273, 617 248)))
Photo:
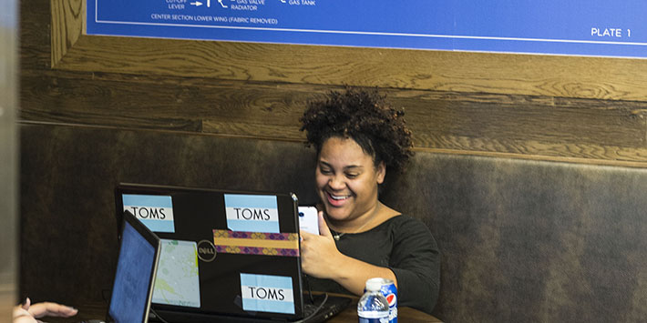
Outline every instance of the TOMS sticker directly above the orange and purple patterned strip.
POLYGON ((232 231, 280 233, 275 196, 225 194, 225 209, 232 231))

